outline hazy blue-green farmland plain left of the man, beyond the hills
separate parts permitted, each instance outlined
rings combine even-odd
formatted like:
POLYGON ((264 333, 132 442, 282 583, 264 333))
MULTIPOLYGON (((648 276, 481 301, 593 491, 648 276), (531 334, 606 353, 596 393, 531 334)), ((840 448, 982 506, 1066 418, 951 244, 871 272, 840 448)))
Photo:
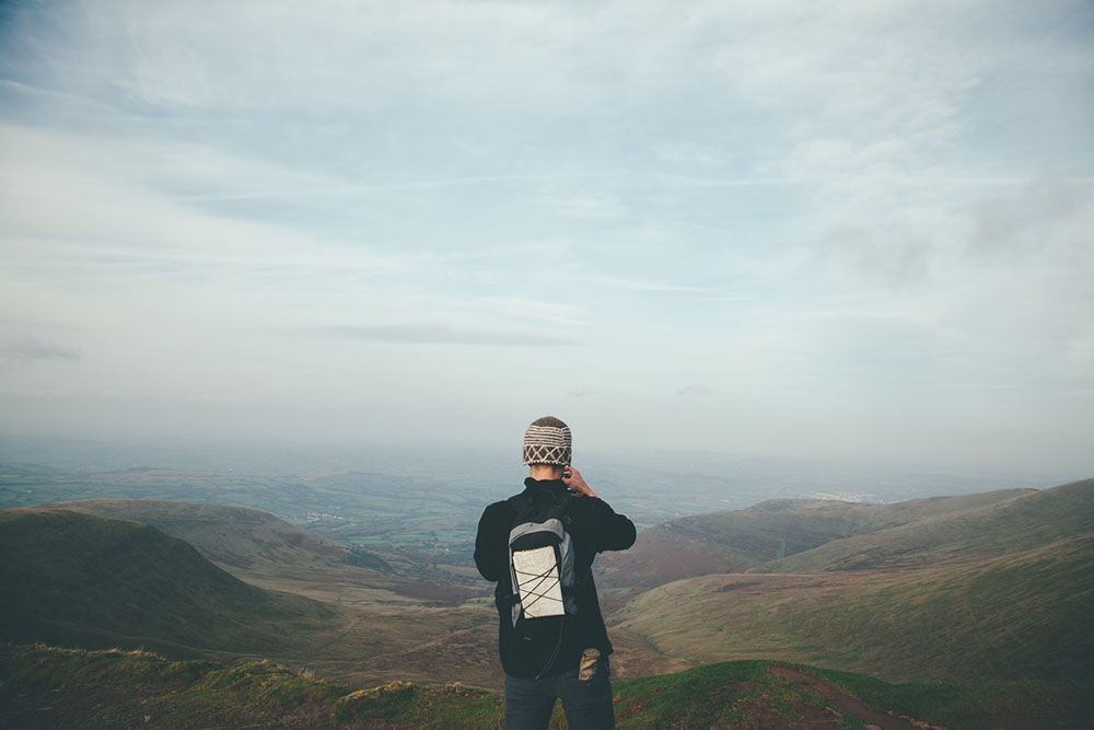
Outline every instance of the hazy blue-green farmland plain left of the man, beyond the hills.
MULTIPOLYGON (((251 465, 257 466, 257 465, 251 465)), ((435 567, 459 576, 470 565, 481 489, 403 476, 322 467, 283 476, 133 467, 58 474, 4 466, 0 507, 71 500, 153 499, 234 505, 272 512, 345 545, 358 545, 407 575, 435 567), (451 548, 451 549, 450 549, 451 548)))

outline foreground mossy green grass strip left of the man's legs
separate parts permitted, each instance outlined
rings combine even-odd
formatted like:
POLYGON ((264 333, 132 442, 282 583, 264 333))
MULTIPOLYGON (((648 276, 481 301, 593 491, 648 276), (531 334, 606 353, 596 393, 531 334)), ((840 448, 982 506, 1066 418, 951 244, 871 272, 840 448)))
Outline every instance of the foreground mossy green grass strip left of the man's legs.
POLYGON ((0 676, 4 727, 486 728, 502 716, 501 698, 481 690, 404 682, 352 692, 269 661, 7 645, 0 676))

